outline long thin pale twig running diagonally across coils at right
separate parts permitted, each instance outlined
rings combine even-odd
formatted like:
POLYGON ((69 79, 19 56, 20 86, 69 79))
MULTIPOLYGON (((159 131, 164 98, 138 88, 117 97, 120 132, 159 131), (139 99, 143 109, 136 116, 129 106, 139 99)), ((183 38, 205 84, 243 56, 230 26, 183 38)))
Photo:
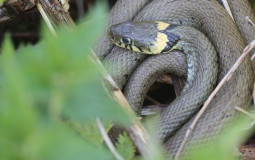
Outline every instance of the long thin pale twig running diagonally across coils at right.
POLYGON ((220 90, 220 88, 223 86, 223 84, 231 78, 231 76, 233 75, 233 73, 235 72, 237 67, 240 65, 240 63, 243 61, 243 59, 250 53, 250 51, 254 48, 254 46, 255 46, 255 40, 252 41, 248 46, 246 46, 246 48, 244 49, 242 55, 237 59, 235 64, 232 66, 232 68, 228 71, 228 73, 224 76, 224 78, 220 81, 220 83, 217 85, 217 87, 214 89, 214 91, 211 93, 211 95, 205 101, 203 107, 200 109, 200 111, 198 112, 198 114, 195 117, 194 121, 192 122, 192 124, 190 125, 189 129, 187 130, 186 135, 184 137, 184 140, 182 141, 182 144, 181 144, 181 146, 180 146, 180 148, 179 148, 179 150, 178 150, 178 152, 177 152, 177 154, 175 156, 175 160, 178 160, 178 158, 179 158, 179 156, 180 156, 180 154, 181 154, 185 144, 188 141, 188 138, 189 138, 191 132, 193 131, 195 125, 197 124, 197 121, 202 116, 202 114, 206 110, 206 108, 209 105, 209 103, 212 101, 212 99, 214 98, 216 93, 220 90))

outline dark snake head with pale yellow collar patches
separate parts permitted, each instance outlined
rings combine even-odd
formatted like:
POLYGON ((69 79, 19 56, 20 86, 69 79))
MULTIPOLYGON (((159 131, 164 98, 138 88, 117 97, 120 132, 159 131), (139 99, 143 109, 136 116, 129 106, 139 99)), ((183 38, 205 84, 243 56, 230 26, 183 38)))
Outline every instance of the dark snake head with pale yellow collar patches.
POLYGON ((113 25, 108 36, 114 44, 135 52, 159 54, 168 52, 169 37, 163 31, 170 25, 164 22, 124 22, 113 25))

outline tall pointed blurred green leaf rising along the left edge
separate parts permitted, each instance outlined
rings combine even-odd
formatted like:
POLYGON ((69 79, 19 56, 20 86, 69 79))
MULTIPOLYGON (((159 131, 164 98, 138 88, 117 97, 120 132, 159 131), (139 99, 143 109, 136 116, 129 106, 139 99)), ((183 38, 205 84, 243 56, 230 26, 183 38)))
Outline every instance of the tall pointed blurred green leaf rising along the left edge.
POLYGON ((0 159, 23 155, 21 144, 36 128, 37 113, 14 57, 7 36, 0 57, 0 159))

